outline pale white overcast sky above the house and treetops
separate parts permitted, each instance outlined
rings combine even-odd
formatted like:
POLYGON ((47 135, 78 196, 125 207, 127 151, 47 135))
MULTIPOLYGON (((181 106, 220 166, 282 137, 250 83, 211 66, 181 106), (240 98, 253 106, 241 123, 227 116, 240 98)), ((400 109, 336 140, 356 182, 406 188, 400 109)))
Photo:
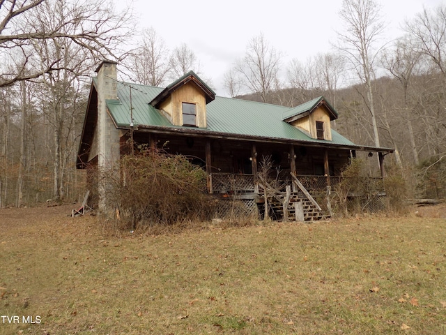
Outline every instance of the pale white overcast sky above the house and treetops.
MULTIPOLYGON (((153 27, 169 47, 186 43, 212 78, 217 95, 226 96, 223 75, 243 57, 251 38, 262 32, 284 54, 283 68, 297 58, 305 62, 330 52, 341 29, 342 0, 134 0, 140 28, 153 27)), ((401 36, 401 25, 441 0, 378 0, 387 23, 385 40, 401 36)))

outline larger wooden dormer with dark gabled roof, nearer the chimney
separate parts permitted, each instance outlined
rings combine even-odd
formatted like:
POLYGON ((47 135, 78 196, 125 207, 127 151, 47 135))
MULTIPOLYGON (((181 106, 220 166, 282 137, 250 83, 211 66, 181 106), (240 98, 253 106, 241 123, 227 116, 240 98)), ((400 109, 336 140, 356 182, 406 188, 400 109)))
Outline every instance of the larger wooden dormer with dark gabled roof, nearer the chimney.
POLYGON ((190 71, 172 82, 150 104, 174 126, 206 128, 206 105, 214 99, 214 91, 190 71))

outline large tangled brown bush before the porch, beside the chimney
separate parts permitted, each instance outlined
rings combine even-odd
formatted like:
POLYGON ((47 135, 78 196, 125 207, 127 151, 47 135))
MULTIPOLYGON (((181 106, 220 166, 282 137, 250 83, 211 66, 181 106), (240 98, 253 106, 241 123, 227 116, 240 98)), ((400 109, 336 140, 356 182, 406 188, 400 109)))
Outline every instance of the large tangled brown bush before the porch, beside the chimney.
POLYGON ((120 178, 113 182, 109 205, 133 228, 204 220, 213 215, 206 195, 206 172, 185 156, 143 149, 121 158, 120 178))

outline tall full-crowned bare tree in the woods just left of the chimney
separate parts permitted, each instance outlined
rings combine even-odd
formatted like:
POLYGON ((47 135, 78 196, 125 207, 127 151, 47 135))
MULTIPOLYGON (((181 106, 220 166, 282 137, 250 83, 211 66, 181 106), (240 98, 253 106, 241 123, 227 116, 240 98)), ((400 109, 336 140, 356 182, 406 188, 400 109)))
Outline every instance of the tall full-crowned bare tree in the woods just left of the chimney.
MULTIPOLYGON (((38 31, 53 31, 55 25, 71 15, 69 0, 44 3, 35 13, 33 24, 38 31), (52 6, 54 5, 54 6, 52 6), (51 15, 49 15, 51 13, 51 15)), ((94 11, 94 8, 93 8, 94 11)), ((61 33, 70 35, 83 27, 84 22, 73 22, 61 33)), ((36 68, 54 66, 57 70, 45 73, 37 80, 41 94, 36 97, 52 131, 53 200, 66 197, 67 172, 74 167, 75 147, 79 124, 84 112, 84 87, 89 80, 95 59, 91 50, 69 38, 47 38, 33 44, 36 68), (77 130, 77 131, 76 131, 77 130)))

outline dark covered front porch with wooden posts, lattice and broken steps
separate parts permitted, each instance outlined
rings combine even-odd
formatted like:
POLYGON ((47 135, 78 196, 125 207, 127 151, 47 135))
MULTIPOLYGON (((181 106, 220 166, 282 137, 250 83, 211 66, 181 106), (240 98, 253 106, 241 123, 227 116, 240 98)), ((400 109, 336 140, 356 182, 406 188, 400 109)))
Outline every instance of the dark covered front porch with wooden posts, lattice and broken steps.
MULTIPOLYGON (((296 221, 332 215, 330 191, 339 183, 341 171, 356 156, 356 149, 361 149, 333 146, 329 142, 294 143, 264 138, 259 141, 178 131, 138 131, 133 138, 135 143, 187 156, 206 170, 208 193, 222 200, 222 213, 225 201, 228 209, 233 208, 230 200, 237 200, 248 213, 296 221), (265 180, 266 159, 270 161, 268 173, 277 181, 275 186, 265 180)), ((128 143, 128 134, 122 139, 121 143, 128 143)), ((384 154, 378 151, 378 179, 385 173, 384 154)))

